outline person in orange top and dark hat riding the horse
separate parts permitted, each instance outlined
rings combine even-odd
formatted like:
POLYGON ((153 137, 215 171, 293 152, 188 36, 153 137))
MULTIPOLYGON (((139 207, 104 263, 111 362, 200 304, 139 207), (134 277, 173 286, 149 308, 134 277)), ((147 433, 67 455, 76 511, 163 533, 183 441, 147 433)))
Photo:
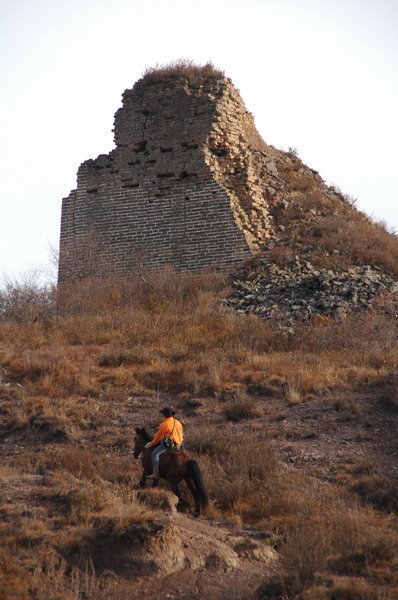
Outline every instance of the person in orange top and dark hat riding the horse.
POLYGON ((148 479, 159 479, 159 457, 166 450, 181 450, 183 430, 180 421, 174 418, 175 412, 169 406, 162 408, 160 413, 164 416, 153 440, 145 444, 145 448, 154 446, 151 454, 153 472, 148 479), (171 441, 169 441, 171 440, 171 441))

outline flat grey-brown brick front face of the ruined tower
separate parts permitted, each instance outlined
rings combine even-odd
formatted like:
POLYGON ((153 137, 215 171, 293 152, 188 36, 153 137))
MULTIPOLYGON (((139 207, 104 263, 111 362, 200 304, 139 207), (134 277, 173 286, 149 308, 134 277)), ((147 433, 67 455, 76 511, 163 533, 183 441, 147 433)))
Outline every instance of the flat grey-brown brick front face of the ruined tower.
POLYGON ((203 152, 223 85, 138 82, 124 92, 116 148, 84 162, 63 200, 61 283, 142 265, 228 267, 249 253, 203 152))

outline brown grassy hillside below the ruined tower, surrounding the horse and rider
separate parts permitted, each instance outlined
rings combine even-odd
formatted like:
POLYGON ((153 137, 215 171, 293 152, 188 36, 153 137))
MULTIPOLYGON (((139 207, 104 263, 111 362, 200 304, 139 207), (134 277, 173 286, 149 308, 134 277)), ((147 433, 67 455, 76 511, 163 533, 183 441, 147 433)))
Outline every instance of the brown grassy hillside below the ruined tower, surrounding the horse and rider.
POLYGON ((0 599, 397 598, 393 296, 287 333, 223 307, 219 274, 145 279, 0 296, 0 599), (207 526, 276 551, 255 583, 231 574, 206 596, 204 572, 189 596, 131 562, 165 527, 131 456, 164 404, 203 471, 207 526))

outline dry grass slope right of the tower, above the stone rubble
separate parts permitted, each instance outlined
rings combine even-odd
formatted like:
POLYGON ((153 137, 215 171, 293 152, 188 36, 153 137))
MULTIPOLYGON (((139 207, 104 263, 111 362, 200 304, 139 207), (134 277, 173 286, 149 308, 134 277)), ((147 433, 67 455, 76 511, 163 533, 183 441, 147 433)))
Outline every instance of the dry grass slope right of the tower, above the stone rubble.
MULTIPOLYGON (((290 153, 292 163, 280 164, 290 189, 286 209, 273 208, 278 225, 283 225, 292 240, 319 268, 345 269, 353 264, 372 264, 392 276, 398 275, 398 236, 385 223, 373 222, 355 207, 355 200, 338 188, 328 193, 308 173, 300 158, 290 153)), ((283 252, 276 261, 280 264, 283 252)), ((282 263, 283 264, 283 263, 282 263)))

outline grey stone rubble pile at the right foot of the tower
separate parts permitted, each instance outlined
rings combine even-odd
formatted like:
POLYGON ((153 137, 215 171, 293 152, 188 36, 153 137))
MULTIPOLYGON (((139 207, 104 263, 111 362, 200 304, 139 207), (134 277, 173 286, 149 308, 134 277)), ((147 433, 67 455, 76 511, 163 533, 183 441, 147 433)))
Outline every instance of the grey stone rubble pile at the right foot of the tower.
POLYGON ((296 256, 286 267, 261 262, 249 275, 236 278, 232 290, 225 306, 291 327, 314 315, 343 317, 369 308, 384 294, 398 292, 398 282, 375 266, 317 270, 296 256))

